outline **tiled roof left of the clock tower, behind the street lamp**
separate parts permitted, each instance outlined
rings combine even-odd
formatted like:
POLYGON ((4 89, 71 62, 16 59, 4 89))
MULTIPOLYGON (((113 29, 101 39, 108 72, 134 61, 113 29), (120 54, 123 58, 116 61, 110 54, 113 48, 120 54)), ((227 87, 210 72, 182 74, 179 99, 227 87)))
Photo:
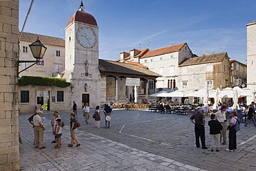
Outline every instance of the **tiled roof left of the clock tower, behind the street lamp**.
POLYGON ((39 37, 39 40, 44 45, 53 45, 53 46, 63 46, 65 47, 65 40, 60 39, 57 37, 50 37, 46 35, 37 35, 33 33, 19 33, 19 41, 25 41, 25 42, 35 42, 37 40, 37 37, 39 37))

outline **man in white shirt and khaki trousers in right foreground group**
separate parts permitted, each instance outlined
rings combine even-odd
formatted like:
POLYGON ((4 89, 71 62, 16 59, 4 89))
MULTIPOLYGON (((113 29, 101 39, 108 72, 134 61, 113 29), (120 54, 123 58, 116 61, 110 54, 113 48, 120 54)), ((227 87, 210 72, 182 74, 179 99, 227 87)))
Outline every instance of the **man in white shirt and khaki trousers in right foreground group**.
POLYGON ((223 129, 221 130, 221 140, 223 141, 223 145, 226 145, 227 141, 227 116, 226 116, 226 105, 222 105, 221 109, 215 113, 217 120, 221 123, 223 129))

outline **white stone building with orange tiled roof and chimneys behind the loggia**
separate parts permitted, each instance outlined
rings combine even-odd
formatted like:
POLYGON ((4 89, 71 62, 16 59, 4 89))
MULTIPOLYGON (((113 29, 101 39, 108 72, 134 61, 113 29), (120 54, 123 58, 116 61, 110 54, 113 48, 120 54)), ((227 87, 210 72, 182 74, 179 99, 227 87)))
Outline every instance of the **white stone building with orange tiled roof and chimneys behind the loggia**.
MULTIPOLYGON (((147 66, 150 71, 162 75, 157 78, 156 89, 165 91, 174 91, 180 89, 177 78, 179 75, 179 64, 192 57, 192 51, 187 43, 176 44, 164 48, 149 51, 148 48, 143 50, 131 49, 128 52, 121 52, 120 58, 116 61, 138 62, 147 66)), ((154 92, 149 92, 154 93, 154 92)))

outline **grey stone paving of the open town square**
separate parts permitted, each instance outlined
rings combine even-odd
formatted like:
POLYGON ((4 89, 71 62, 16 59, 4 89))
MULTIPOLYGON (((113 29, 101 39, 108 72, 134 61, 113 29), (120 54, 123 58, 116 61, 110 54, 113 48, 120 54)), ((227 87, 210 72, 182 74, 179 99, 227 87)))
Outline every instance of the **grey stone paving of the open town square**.
MULTIPOLYGON (((66 125, 62 148, 57 150, 51 144, 51 113, 43 114, 46 117, 43 150, 33 147, 33 129, 27 120, 30 114, 19 116, 24 143, 20 145, 23 170, 253 170, 256 167, 254 127, 238 132, 237 152, 224 151, 227 145, 221 147, 221 152, 210 152, 194 147, 194 127, 188 116, 115 110, 110 129, 95 129, 92 118, 86 125, 79 111, 82 127, 77 137, 81 146, 67 147, 68 113, 60 112, 66 125)), ((104 122, 100 125, 104 127, 104 122)), ((205 126, 206 144, 210 146, 208 132, 205 126)))

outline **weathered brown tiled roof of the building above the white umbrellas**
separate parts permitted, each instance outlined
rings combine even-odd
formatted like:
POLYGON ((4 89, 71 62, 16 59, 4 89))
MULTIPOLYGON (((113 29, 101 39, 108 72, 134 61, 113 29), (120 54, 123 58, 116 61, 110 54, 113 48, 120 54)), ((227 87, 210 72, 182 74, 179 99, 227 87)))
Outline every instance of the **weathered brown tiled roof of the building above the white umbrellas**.
POLYGON ((179 66, 221 62, 224 60, 225 57, 228 57, 228 53, 226 53, 226 52, 208 54, 208 55, 203 55, 203 56, 199 56, 199 57, 191 57, 190 59, 185 60, 185 62, 183 62, 179 66))

